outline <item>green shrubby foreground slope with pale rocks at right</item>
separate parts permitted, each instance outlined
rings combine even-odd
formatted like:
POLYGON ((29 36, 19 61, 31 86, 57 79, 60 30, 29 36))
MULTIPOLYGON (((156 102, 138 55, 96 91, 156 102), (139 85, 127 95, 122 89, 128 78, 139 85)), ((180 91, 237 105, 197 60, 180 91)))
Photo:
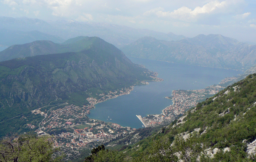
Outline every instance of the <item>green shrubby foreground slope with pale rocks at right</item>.
MULTIPOLYGON (((120 152, 103 154, 102 151, 100 158, 106 159, 109 154, 114 157, 133 157, 131 161, 135 162, 174 162, 179 159, 188 162, 199 159, 212 162, 254 161, 255 96, 256 74, 251 74, 198 103, 155 135, 127 146, 120 152)), ((97 160, 98 157, 94 158, 97 160)))

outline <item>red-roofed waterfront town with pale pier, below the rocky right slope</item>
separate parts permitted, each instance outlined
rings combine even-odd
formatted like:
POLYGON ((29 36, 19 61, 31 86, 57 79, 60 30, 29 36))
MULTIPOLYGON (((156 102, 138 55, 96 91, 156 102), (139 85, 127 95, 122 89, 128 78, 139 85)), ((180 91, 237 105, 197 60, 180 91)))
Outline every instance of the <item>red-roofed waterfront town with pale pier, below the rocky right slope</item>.
MULTIPOLYGON (((228 82, 230 79, 222 80, 222 83, 228 82)), ((201 90, 173 90, 172 96, 165 97, 171 99, 173 104, 166 107, 162 114, 147 115, 141 117, 137 115, 144 127, 154 127, 157 125, 164 125, 177 119, 179 115, 183 115, 188 109, 196 106, 198 102, 211 97, 224 89, 221 85, 211 85, 201 90)))

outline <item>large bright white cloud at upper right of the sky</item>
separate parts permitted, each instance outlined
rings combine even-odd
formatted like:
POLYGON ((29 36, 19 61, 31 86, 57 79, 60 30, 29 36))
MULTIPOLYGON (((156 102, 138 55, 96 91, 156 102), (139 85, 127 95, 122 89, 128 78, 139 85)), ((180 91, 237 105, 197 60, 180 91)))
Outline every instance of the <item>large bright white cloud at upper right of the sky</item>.
MULTIPOLYGON (((178 8, 172 12, 164 11, 163 8, 158 7, 146 11, 144 15, 147 16, 154 13, 159 18, 172 18, 178 19, 180 21, 195 22, 200 16, 204 14, 226 13, 230 10, 230 8, 232 8, 232 6, 237 5, 238 3, 241 3, 240 0, 225 0, 222 2, 214 0, 207 3, 206 5, 203 5, 202 7, 197 6, 194 8, 194 10, 186 6, 182 6, 181 8, 178 8)), ((245 13, 244 16, 246 15, 247 13, 245 13)))

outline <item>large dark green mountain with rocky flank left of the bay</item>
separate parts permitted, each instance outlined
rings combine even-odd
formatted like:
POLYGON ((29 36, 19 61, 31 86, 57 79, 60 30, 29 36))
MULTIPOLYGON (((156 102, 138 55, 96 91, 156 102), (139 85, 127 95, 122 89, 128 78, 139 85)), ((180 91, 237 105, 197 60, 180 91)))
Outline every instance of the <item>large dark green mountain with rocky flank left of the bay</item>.
POLYGON ((23 54, 27 51, 29 55, 52 50, 59 53, 0 62, 0 132, 4 132, 2 128, 6 128, 5 133, 9 128, 16 129, 7 127, 10 121, 5 120, 31 114, 31 110, 50 103, 68 101, 82 106, 87 104, 86 98, 96 93, 128 87, 139 80, 152 80, 147 69, 133 64, 121 50, 98 37, 84 37, 62 49, 61 44, 50 41, 18 47, 17 51, 23 54))

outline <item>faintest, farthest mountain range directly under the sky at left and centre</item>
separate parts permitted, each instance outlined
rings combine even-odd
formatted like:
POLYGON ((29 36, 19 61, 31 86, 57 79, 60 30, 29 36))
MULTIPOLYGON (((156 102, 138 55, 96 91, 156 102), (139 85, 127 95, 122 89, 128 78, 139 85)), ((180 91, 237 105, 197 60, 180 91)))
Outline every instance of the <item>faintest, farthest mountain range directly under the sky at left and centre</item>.
MULTIPOLYGON (((123 47, 128 45, 138 38, 144 36, 156 37, 159 40, 180 40, 185 38, 183 35, 175 35, 173 33, 162 33, 148 29, 134 29, 126 26, 118 26, 107 23, 96 22, 77 22, 77 21, 43 21, 40 19, 10 18, 0 17, 0 29, 31 31, 38 30, 50 35, 57 35, 58 37, 69 39, 84 36, 97 36, 105 41, 112 43, 116 47, 123 47)), ((53 41, 54 42, 54 41, 53 41)), ((57 42, 55 42, 57 43, 57 42)))

